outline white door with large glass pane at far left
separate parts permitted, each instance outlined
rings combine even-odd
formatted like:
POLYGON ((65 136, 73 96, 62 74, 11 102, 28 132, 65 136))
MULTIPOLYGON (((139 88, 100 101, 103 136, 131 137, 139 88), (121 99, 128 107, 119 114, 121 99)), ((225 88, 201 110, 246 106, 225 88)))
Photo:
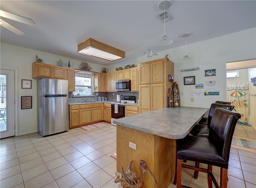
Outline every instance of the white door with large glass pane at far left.
POLYGON ((0 72, 0 138, 15 136, 14 70, 0 72))

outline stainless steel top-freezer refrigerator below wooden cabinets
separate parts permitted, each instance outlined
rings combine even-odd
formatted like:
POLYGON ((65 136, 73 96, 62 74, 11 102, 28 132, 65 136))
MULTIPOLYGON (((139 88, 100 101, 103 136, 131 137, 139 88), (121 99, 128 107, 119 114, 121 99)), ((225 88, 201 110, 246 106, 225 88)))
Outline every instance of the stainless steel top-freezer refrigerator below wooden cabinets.
POLYGON ((42 78, 37 82, 38 132, 42 136, 69 129, 68 80, 42 78))

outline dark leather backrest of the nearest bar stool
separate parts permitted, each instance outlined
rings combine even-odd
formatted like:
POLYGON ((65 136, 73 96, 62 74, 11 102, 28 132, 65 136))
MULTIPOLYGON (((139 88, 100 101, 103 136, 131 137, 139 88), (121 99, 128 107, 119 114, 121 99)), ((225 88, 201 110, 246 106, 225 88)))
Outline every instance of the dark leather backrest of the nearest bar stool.
POLYGON ((215 109, 212 116, 208 139, 227 163, 236 123, 240 118, 241 114, 220 107, 215 109))

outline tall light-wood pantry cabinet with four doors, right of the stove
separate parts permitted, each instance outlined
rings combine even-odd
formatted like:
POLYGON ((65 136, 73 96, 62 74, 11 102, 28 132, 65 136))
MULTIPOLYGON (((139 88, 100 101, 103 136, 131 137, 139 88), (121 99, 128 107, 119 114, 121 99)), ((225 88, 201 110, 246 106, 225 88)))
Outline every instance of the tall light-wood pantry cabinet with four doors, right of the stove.
POLYGON ((166 58, 140 63, 139 113, 168 107, 169 76, 174 76, 174 63, 166 58))

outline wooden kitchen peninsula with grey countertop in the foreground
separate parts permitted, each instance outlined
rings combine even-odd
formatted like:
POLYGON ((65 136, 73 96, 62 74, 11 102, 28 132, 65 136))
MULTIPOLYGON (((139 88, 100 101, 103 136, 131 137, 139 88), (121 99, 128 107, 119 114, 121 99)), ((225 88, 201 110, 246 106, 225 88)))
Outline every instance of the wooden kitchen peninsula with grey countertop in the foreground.
POLYGON ((144 160, 158 182, 156 186, 145 173, 144 186, 167 188, 174 178, 176 139, 184 138, 207 110, 180 106, 114 120, 117 172, 133 161, 132 171, 140 174, 138 162, 144 160), (136 150, 129 147, 129 142, 136 144, 136 150))

